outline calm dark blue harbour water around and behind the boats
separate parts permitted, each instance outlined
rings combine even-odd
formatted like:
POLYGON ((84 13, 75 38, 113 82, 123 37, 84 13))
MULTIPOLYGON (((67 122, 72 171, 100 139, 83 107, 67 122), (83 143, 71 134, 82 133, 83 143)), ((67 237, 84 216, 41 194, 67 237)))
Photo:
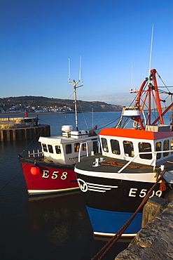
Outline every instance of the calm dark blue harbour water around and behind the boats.
MULTIPOLYGON (((118 117, 119 112, 79 114, 78 129, 92 129, 95 124, 98 129, 113 127, 118 117)), ((50 124, 51 135, 62 134, 63 124, 71 124, 75 130, 74 114, 39 115, 39 119, 41 124, 50 124)), ((1 143, 0 259, 91 259, 106 242, 93 238, 81 192, 27 195, 18 155, 40 148, 36 140, 29 143, 31 140, 1 143)), ((104 259, 114 259, 127 245, 117 242, 104 259)))

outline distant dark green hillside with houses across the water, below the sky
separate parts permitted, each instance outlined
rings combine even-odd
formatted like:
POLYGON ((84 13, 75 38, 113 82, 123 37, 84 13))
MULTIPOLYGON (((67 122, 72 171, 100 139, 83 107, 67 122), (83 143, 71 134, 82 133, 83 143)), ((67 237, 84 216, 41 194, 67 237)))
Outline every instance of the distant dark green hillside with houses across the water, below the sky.
MULTIPOLYGON (((74 109, 74 100, 70 99, 59 99, 59 98, 46 98, 43 96, 19 96, 19 97, 9 97, 9 98, 0 98, 0 105, 25 105, 25 106, 34 106, 34 107, 70 107, 74 109)), ((111 105, 99 101, 83 101, 77 100, 78 112, 92 112, 92 109, 95 112, 115 112, 121 111, 122 106, 120 105, 111 105)))

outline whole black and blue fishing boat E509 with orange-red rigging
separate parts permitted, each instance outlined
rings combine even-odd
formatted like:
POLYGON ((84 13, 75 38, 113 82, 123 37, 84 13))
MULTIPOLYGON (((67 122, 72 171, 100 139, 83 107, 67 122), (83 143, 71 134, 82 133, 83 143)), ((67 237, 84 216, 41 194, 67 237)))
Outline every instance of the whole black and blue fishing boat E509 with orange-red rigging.
MULTIPOLYGON (((130 89, 136 95, 134 105, 123 108, 114 128, 100 131, 100 153, 82 160, 79 154, 75 172, 95 235, 115 235, 163 170, 163 179, 151 197, 165 197, 173 183, 173 131, 164 124, 164 115, 173 104, 165 107, 161 98, 172 93, 166 86, 162 86, 165 91, 158 86, 157 75, 151 70, 139 91, 130 89)), ((123 236, 136 235, 141 218, 138 212, 123 236)))

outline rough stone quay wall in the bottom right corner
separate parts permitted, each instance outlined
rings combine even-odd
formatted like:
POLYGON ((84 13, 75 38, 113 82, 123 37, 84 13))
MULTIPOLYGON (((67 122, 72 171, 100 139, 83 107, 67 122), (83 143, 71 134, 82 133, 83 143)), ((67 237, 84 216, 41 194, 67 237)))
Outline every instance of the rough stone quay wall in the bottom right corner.
POLYGON ((141 228, 127 249, 115 260, 173 259, 173 201, 141 228))

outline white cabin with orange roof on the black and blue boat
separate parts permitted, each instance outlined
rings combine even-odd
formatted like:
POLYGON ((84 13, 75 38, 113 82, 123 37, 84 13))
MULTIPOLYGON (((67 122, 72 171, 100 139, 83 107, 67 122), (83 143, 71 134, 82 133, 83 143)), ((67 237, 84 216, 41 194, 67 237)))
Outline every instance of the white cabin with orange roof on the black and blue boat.
POLYGON ((133 162, 153 166, 173 159, 173 132, 166 125, 146 125, 145 130, 102 129, 99 138, 103 156, 134 158, 133 162))

